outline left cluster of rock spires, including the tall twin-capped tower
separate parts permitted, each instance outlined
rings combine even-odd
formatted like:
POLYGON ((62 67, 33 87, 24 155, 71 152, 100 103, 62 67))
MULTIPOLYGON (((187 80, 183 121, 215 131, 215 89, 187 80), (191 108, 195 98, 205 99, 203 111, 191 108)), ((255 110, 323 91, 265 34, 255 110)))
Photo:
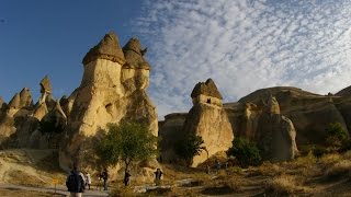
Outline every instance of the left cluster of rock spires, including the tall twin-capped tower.
POLYGON ((39 101, 33 105, 29 89, 15 94, 9 105, 1 100, 0 140, 2 148, 47 148, 38 131, 39 121, 55 119, 65 125, 58 136, 59 163, 65 170, 73 162, 84 163, 84 154, 94 137, 107 123, 134 120, 146 125, 158 135, 156 108, 146 89, 149 85, 150 66, 144 59, 137 38, 123 48, 114 33, 103 39, 84 56, 81 84, 70 96, 55 102, 47 77, 41 81, 39 101))

